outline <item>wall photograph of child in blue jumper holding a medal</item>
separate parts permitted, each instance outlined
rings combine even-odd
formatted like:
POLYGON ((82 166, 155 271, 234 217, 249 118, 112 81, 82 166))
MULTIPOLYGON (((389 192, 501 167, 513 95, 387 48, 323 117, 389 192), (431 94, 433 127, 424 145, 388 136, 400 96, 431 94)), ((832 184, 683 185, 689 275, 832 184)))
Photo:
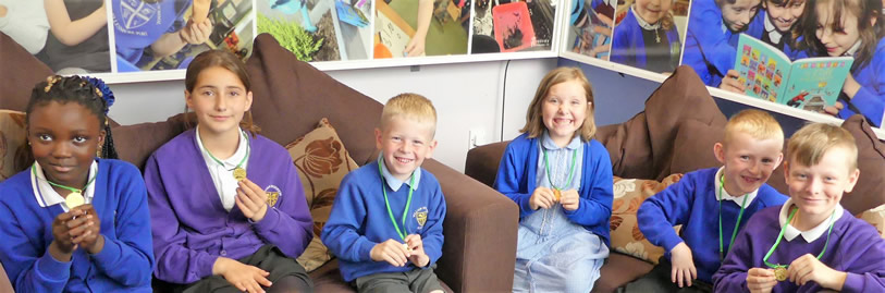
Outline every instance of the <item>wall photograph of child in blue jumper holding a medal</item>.
POLYGON ((251 51, 249 0, 111 0, 111 9, 118 72, 186 69, 211 49, 251 51))

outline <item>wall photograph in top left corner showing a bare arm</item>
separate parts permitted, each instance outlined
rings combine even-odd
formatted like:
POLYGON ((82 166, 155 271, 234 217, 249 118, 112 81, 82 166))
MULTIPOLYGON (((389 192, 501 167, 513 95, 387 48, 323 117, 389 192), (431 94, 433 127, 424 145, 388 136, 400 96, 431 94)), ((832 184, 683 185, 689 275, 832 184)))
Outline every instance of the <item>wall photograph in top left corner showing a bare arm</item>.
POLYGON ((111 72, 102 0, 0 0, 0 32, 57 74, 111 72))

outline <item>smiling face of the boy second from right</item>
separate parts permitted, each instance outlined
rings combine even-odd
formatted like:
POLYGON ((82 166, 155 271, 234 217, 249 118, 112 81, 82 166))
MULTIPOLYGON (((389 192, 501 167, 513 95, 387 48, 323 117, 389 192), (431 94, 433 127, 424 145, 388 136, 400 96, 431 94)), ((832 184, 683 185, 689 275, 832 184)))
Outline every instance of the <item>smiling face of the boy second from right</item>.
POLYGON ((727 145, 717 143, 713 152, 725 168, 725 191, 741 196, 759 190, 784 158, 783 147, 783 141, 757 139, 745 132, 733 134, 727 145))

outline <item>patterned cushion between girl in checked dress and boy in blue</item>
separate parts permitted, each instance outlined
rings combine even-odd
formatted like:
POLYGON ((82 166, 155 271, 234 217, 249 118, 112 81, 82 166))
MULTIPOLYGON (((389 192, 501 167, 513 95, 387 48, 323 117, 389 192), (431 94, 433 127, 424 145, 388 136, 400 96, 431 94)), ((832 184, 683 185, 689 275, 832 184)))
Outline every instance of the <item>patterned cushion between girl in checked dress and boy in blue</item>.
MULTIPOLYGON (((662 182, 654 180, 620 179, 615 176, 614 202, 612 203, 612 248, 642 260, 657 264, 664 248, 654 246, 642 232, 636 220, 636 211, 646 198, 663 191, 683 179, 683 174, 672 174, 662 182)), ((678 232, 678 227, 674 228, 678 232)))

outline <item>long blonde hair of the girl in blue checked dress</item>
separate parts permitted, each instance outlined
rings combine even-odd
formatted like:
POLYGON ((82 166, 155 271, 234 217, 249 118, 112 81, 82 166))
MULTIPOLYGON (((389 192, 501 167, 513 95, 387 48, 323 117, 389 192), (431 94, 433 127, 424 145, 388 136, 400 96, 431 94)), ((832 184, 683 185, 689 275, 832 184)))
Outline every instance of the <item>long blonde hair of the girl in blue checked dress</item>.
POLYGON ((593 109, 595 109, 595 102, 593 102, 593 87, 579 68, 558 68, 549 72, 544 78, 541 80, 541 84, 538 85, 538 90, 534 91, 534 98, 531 100, 531 103, 529 103, 529 110, 526 112, 526 125, 524 125, 519 132, 528 133, 529 138, 541 136, 546 129, 541 115, 544 98, 550 95, 550 88, 554 85, 571 81, 577 81, 581 84, 583 91, 587 93, 588 101, 587 115, 583 118, 583 123, 580 129, 575 133, 580 132, 583 142, 593 138, 593 135, 597 134, 597 123, 593 121, 593 109))

